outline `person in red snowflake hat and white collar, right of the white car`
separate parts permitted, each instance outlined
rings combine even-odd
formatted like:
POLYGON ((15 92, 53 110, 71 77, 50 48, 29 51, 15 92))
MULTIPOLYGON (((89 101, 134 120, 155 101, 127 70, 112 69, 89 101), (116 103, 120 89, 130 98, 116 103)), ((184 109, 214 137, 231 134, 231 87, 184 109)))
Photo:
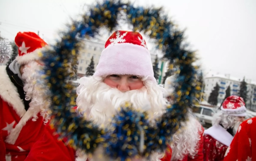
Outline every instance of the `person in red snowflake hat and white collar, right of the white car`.
MULTIPOLYGON (((243 98, 229 96, 214 115, 213 126, 204 131, 204 160, 222 161, 225 152, 246 116, 243 98)), ((239 131, 239 130, 238 130, 239 131)))

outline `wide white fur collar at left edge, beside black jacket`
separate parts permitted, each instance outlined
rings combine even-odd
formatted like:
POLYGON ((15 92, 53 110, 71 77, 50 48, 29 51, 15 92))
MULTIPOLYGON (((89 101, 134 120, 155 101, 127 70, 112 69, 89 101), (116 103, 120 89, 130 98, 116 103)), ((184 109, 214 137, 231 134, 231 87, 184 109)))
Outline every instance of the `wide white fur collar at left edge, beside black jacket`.
POLYGON ((11 82, 7 72, 6 66, 0 66, 0 97, 7 102, 17 114, 22 117, 25 113, 25 106, 23 100, 20 98, 17 88, 11 82))

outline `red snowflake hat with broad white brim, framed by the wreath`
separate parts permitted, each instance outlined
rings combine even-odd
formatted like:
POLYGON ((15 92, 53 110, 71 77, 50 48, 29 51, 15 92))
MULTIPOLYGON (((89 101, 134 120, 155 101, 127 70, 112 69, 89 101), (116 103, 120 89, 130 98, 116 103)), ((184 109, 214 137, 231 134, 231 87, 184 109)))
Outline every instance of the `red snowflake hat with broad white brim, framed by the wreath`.
POLYGON ((136 75, 154 78, 150 53, 138 32, 115 31, 106 41, 94 76, 136 75))

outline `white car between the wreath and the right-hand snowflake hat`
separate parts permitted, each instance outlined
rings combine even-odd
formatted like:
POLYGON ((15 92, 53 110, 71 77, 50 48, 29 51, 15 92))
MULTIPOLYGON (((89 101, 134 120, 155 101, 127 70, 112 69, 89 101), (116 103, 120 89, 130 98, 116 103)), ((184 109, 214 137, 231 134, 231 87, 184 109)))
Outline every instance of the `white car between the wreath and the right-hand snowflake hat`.
POLYGON ((194 114, 204 127, 211 127, 213 120, 213 115, 217 112, 217 109, 213 107, 207 107, 207 106, 193 106, 192 108, 194 114))

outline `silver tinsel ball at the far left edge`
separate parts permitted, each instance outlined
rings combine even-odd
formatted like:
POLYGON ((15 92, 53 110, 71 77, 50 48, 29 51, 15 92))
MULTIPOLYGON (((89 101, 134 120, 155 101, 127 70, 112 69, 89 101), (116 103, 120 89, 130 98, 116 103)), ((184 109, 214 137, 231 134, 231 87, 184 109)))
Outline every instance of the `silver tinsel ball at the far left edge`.
POLYGON ((0 41, 0 63, 5 63, 12 57, 13 49, 9 42, 0 41))

